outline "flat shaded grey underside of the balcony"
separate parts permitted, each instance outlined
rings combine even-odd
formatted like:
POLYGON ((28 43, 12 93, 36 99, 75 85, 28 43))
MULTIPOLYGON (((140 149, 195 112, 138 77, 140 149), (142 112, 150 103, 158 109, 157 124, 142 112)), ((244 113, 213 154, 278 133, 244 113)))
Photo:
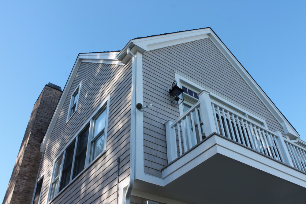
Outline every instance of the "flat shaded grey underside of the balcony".
POLYGON ((304 203, 306 188, 217 153, 164 187, 134 189, 185 203, 304 203))

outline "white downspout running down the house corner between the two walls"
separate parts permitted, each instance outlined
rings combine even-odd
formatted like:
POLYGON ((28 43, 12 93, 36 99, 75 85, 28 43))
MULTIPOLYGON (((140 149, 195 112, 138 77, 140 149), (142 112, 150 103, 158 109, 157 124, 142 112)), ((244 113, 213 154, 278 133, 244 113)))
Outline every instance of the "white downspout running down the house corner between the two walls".
POLYGON ((136 56, 128 47, 126 53, 132 58, 132 101, 131 101, 131 136, 130 136, 130 180, 125 192, 125 204, 130 204, 130 196, 135 179, 135 130, 136 130, 136 56), (134 74, 134 75, 133 75, 134 74), (133 77, 134 76, 134 77, 133 77))

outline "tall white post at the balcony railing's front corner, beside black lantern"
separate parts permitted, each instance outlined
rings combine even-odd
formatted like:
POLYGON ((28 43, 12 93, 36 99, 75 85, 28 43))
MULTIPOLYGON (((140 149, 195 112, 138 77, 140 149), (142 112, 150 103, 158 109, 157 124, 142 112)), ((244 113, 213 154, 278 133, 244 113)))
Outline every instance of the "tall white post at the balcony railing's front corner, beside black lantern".
POLYGON ((215 117, 212 111, 209 94, 209 92, 204 90, 200 91, 198 94, 200 100, 200 111, 206 137, 214 132, 217 132, 215 117))

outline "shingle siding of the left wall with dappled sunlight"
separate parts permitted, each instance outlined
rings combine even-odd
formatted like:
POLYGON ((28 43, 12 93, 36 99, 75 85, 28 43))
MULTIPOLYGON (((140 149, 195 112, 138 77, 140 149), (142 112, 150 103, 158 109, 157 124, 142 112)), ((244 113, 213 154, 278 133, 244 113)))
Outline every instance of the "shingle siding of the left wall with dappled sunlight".
POLYGON ((43 154, 39 173, 46 174, 41 203, 47 202, 54 160, 109 94, 106 153, 69 183, 52 203, 99 203, 116 199, 117 157, 121 158, 120 181, 129 176, 131 77, 131 63, 126 66, 81 63, 43 154), (66 124, 71 94, 81 81, 77 111, 66 124))

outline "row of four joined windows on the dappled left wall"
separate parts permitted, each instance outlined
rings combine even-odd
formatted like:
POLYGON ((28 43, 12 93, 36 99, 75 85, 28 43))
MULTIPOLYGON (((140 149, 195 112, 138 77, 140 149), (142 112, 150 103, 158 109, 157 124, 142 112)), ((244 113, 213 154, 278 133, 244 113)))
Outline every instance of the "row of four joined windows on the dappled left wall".
POLYGON ((96 111, 88 125, 80 131, 54 163, 50 199, 62 191, 92 161, 106 149, 108 109, 106 105, 96 111), (90 139, 89 139, 90 138, 90 139))

